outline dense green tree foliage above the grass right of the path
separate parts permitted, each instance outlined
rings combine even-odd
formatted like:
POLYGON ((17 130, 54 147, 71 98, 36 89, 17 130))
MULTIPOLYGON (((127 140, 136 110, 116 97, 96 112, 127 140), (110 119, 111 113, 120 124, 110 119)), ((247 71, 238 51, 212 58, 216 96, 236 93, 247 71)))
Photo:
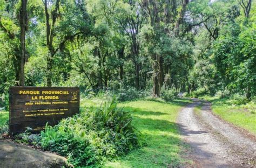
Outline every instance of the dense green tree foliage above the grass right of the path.
MULTIPOLYGON (((196 45, 198 47, 195 51, 203 52, 194 52, 198 55, 198 60, 191 72, 191 83, 196 87, 204 87, 211 95, 221 90, 221 92, 228 91, 229 94, 246 95, 246 98, 250 99, 255 94, 256 80, 255 4, 252 4, 250 17, 247 18, 240 15, 241 7, 239 9, 236 2, 222 6, 218 3, 221 4, 221 2, 217 2, 211 6, 216 10, 212 14, 216 17, 216 21, 206 19, 204 24, 210 33, 210 40, 207 41, 203 38, 205 37, 204 30, 201 30, 196 38, 199 43, 208 44, 196 45), (222 14, 218 15, 219 12, 222 14), (211 24, 214 22, 216 22, 215 27, 211 24), (213 37, 216 32, 216 36, 213 37)), ((194 8, 195 6, 192 7, 193 10, 198 9, 194 8)), ((207 11, 209 10, 203 12, 207 11)), ((206 17, 209 13, 200 15, 206 17)), ((196 43, 198 43, 197 41, 196 43)))

